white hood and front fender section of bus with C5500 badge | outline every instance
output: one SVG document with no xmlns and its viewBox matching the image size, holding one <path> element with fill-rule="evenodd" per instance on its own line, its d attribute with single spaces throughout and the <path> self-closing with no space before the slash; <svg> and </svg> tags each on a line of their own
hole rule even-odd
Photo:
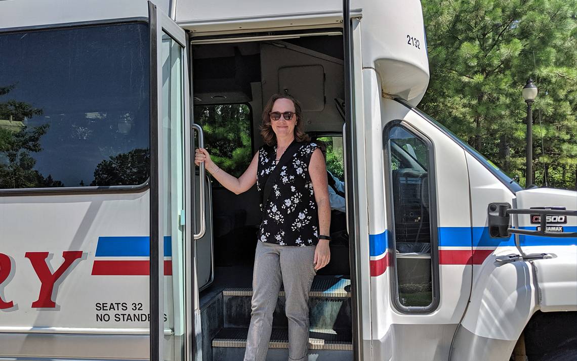
<svg viewBox="0 0 577 361">
<path fill-rule="evenodd" d="M 520 334 L 537 310 L 577 309 L 577 254 L 575 238 L 536 236 L 488 236 L 487 207 L 505 202 L 514 208 L 565 206 L 575 209 L 577 193 L 565 190 L 520 190 L 513 194 L 473 156 L 467 155 L 471 174 L 474 234 L 479 236 L 477 253 L 486 257 L 474 265 L 473 293 L 453 344 L 452 360 L 506 360 Z M 475 176 L 473 176 L 475 174 Z M 535 230 L 529 215 L 512 216 L 514 227 Z M 575 231 L 574 217 L 563 224 Z M 518 246 L 520 245 L 520 247 Z M 484 253 L 490 253 L 483 255 Z M 549 253 L 554 258 L 533 262 L 500 264 L 495 258 L 509 254 Z"/>
</svg>

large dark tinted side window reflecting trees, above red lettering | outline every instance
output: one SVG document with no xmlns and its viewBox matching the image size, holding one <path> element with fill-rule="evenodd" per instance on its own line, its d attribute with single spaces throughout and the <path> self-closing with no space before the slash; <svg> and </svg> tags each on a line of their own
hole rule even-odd
<svg viewBox="0 0 577 361">
<path fill-rule="evenodd" d="M 0 188 L 148 178 L 146 24 L 0 34 Z"/>
</svg>

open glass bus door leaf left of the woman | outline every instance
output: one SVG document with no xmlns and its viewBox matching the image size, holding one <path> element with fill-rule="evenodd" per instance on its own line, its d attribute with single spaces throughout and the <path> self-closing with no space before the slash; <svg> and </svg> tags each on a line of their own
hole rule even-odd
<svg viewBox="0 0 577 361">
<path fill-rule="evenodd" d="M 186 34 L 149 2 L 151 36 L 150 359 L 193 358 L 193 230 Z"/>
</svg>

